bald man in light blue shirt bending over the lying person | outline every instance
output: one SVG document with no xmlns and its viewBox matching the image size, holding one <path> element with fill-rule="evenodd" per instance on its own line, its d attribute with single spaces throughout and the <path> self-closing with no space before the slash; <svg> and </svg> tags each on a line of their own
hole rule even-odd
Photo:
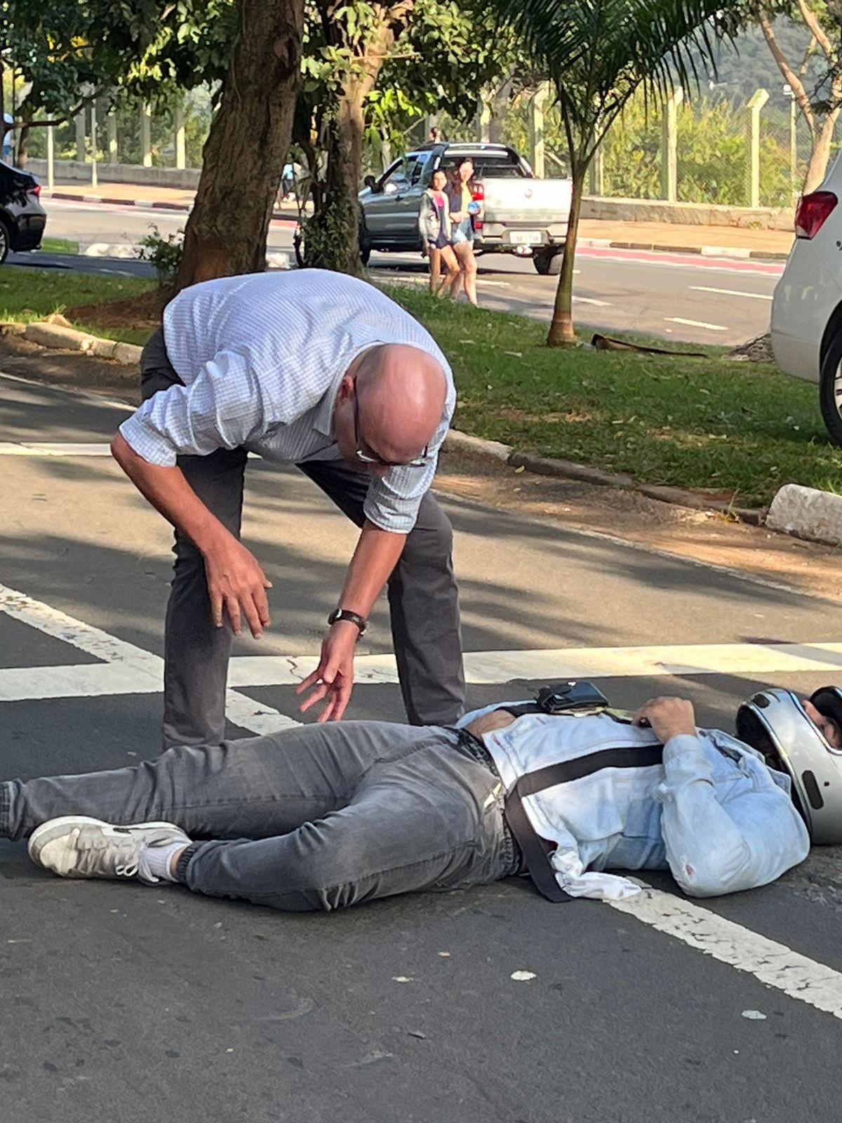
<svg viewBox="0 0 842 1123">
<path fill-rule="evenodd" d="M 231 633 L 257 638 L 269 624 L 271 583 L 240 542 L 249 451 L 295 464 L 361 529 L 301 709 L 324 700 L 320 721 L 342 716 L 356 642 L 388 584 L 408 716 L 456 722 L 452 536 L 429 492 L 456 392 L 432 337 L 354 277 L 256 273 L 181 292 L 140 372 L 144 403 L 111 449 L 175 527 L 164 748 L 222 740 Z"/>
</svg>

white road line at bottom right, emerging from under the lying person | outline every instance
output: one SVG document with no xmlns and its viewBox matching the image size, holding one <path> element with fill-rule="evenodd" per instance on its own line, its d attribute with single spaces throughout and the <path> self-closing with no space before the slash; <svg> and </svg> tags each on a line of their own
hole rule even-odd
<svg viewBox="0 0 842 1123">
<path fill-rule="evenodd" d="M 646 887 L 637 896 L 606 903 L 790 998 L 842 1017 L 842 975 L 784 943 L 660 889 Z"/>
</svg>

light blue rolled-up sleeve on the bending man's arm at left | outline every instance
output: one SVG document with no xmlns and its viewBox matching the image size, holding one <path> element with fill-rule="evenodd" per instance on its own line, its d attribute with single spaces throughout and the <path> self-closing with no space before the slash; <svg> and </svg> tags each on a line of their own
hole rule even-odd
<svg viewBox="0 0 842 1123">
<path fill-rule="evenodd" d="M 177 456 L 239 448 L 266 426 L 264 395 L 240 355 L 222 351 L 190 385 L 158 391 L 120 426 L 149 464 L 173 467 Z"/>
</svg>

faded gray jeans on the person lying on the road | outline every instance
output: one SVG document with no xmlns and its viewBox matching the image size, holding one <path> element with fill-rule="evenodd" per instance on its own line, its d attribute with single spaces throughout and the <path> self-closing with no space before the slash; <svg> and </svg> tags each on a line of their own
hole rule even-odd
<svg viewBox="0 0 842 1123">
<path fill-rule="evenodd" d="M 474 750 L 476 751 L 476 750 Z M 60 815 L 164 820 L 196 893 L 293 912 L 518 871 L 493 766 L 452 730 L 349 721 L 180 748 L 116 772 L 0 784 L 0 837 Z"/>
</svg>

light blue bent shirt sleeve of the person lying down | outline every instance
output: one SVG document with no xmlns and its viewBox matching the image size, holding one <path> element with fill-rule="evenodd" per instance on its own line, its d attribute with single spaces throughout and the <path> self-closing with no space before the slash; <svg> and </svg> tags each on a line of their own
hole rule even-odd
<svg viewBox="0 0 842 1123">
<path fill-rule="evenodd" d="M 769 778 L 720 803 L 699 739 L 663 747 L 661 832 L 672 876 L 689 896 L 710 897 L 767 885 L 803 861 L 809 838 L 793 801 Z"/>
</svg>

